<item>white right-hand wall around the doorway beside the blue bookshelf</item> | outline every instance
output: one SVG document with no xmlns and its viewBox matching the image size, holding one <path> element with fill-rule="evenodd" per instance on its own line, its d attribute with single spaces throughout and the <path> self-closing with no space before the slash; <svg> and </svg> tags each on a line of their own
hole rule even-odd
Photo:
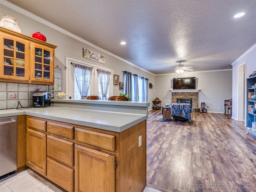
<svg viewBox="0 0 256 192">
<path fill-rule="evenodd" d="M 238 119 L 238 110 L 242 110 L 238 108 L 238 92 L 242 92 L 243 90 L 238 90 L 238 68 L 246 63 L 246 78 L 249 78 L 252 72 L 256 71 L 256 44 L 254 44 L 248 51 L 246 51 L 242 56 L 240 56 L 236 61 L 232 63 L 232 111 L 233 118 L 235 120 Z M 245 81 L 246 83 L 246 81 Z M 246 88 L 246 86 L 245 86 Z M 246 93 L 246 92 L 245 92 Z M 248 98 L 245 95 L 245 99 Z M 246 101 L 245 101 L 246 102 Z M 245 104 L 246 106 L 246 104 Z M 245 110 L 247 111 L 247 110 Z"/>
</svg>

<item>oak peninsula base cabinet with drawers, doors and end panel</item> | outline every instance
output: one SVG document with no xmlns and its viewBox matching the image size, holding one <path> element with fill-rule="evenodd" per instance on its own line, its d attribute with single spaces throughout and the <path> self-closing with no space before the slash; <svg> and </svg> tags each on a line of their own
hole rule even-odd
<svg viewBox="0 0 256 192">
<path fill-rule="evenodd" d="M 146 120 L 116 133 L 27 116 L 26 129 L 26 165 L 68 192 L 146 186 Z"/>
</svg>

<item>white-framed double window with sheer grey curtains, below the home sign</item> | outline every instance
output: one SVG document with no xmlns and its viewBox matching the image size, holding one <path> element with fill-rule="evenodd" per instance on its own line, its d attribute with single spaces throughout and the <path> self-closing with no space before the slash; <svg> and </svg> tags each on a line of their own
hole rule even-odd
<svg viewBox="0 0 256 192">
<path fill-rule="evenodd" d="M 66 94 L 68 94 L 68 96 L 71 96 L 74 99 L 84 98 L 80 94 L 80 90 L 78 88 L 79 86 L 76 82 L 76 78 L 77 78 L 78 82 L 83 82 L 84 84 L 90 82 L 89 86 L 88 86 L 88 91 L 85 92 L 85 94 L 87 93 L 87 96 L 97 95 L 97 96 L 100 96 L 101 99 L 104 98 L 103 95 L 102 95 L 102 89 L 100 87 L 100 80 L 98 78 L 98 71 L 97 70 L 99 69 L 99 70 L 103 70 L 103 71 L 106 71 L 106 72 L 110 73 L 110 76 L 109 76 L 110 82 L 111 82 L 111 77 L 112 77 L 111 74 L 113 74 L 112 70 L 109 70 L 107 68 L 99 68 L 96 65 L 92 65 L 92 64 L 89 64 L 89 63 L 86 63 L 86 62 L 74 60 L 74 59 L 71 59 L 71 58 L 67 58 L 66 63 L 67 63 L 67 69 L 68 69 L 68 70 L 66 70 L 66 77 L 67 77 L 66 78 Z M 88 68 L 92 68 L 91 77 L 88 79 L 88 73 L 86 73 L 84 75 L 81 75 L 80 73 L 78 74 L 78 72 L 76 72 L 76 76 L 75 76 L 75 68 L 74 68 L 74 64 L 72 64 L 72 63 L 79 64 L 81 66 L 85 66 L 85 67 L 88 67 Z M 106 78 L 106 76 L 102 76 L 103 84 L 106 84 L 106 80 L 108 80 Z M 113 86 L 112 86 L 111 83 L 109 83 L 105 100 L 107 100 L 106 98 L 108 98 L 110 94 L 112 95 L 112 92 L 113 92 Z"/>
</svg>

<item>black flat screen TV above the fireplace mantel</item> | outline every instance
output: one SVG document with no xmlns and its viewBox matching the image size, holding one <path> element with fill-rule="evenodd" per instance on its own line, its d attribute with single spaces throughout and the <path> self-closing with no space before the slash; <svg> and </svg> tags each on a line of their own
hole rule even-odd
<svg viewBox="0 0 256 192">
<path fill-rule="evenodd" d="M 173 78 L 173 89 L 196 89 L 196 78 Z"/>
</svg>

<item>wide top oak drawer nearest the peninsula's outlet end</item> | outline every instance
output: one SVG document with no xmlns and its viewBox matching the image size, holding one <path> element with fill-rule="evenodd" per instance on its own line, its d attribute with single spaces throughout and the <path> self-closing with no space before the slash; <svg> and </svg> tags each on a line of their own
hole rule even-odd
<svg viewBox="0 0 256 192">
<path fill-rule="evenodd" d="M 115 136 L 81 128 L 75 128 L 75 139 L 106 150 L 115 150 Z"/>
</svg>

